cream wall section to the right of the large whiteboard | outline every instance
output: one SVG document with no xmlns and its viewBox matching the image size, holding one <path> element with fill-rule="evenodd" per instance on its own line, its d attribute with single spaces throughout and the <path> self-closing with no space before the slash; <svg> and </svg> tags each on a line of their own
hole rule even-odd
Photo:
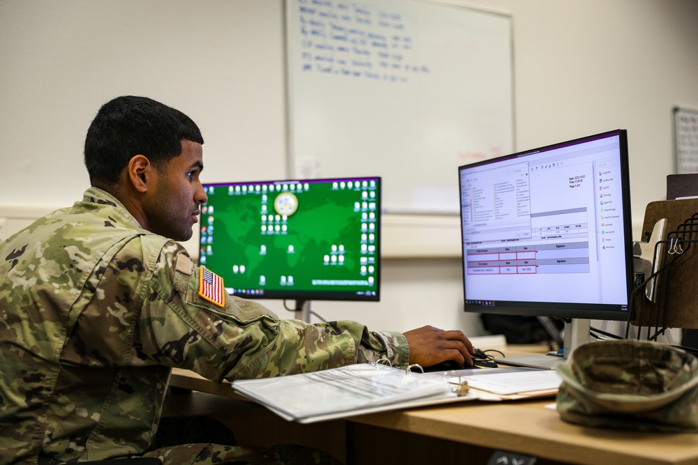
<svg viewBox="0 0 698 465">
<path fill-rule="evenodd" d="M 671 109 L 698 107 L 693 0 L 491 0 L 514 17 L 517 146 L 628 130 L 634 222 L 674 172 Z M 639 229 L 636 230 L 639 234 Z"/>
</svg>

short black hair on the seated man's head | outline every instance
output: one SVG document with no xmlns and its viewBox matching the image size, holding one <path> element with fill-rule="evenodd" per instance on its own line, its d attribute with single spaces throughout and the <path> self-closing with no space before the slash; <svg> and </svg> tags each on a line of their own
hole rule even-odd
<svg viewBox="0 0 698 465">
<path fill-rule="evenodd" d="M 91 185 L 116 185 L 134 155 L 160 170 L 181 155 L 181 140 L 204 143 L 186 114 L 147 97 L 121 96 L 102 105 L 87 130 L 84 163 Z"/>
</svg>

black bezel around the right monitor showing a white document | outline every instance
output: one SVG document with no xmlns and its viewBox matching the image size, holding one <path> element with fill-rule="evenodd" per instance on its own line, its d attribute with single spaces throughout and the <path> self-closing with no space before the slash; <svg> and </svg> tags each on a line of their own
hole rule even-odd
<svg viewBox="0 0 698 465">
<path fill-rule="evenodd" d="M 484 165 L 490 165 L 497 162 L 502 162 L 505 160 L 512 160 L 514 158 L 522 158 L 526 155 L 533 155 L 535 153 L 541 153 L 544 151 L 551 151 L 556 148 L 562 148 L 564 146 L 570 146 L 574 144 L 579 144 L 581 142 L 593 141 L 596 139 L 603 139 L 606 137 L 612 137 L 614 135 L 618 136 L 619 150 L 620 150 L 620 163 L 621 163 L 621 189 L 623 192 L 623 241 L 625 250 L 625 269 L 626 269 L 626 294 L 628 296 L 628 304 L 626 305 L 627 310 L 623 310 L 621 305 L 618 304 L 589 304 L 589 303 L 564 303 L 564 302 L 520 302 L 520 301 L 505 301 L 494 303 L 493 305 L 483 305 L 468 303 L 468 289 L 466 284 L 466 267 L 467 263 L 465 260 L 466 242 L 465 242 L 465 231 L 463 231 L 463 207 L 462 199 L 460 199 L 460 220 L 461 220 L 461 272 L 463 273 L 463 310 L 465 312 L 474 312 L 480 314 L 506 314 L 506 315 L 518 315 L 525 317 L 556 317 L 560 319 L 597 319 L 597 320 L 616 320 L 616 321 L 629 321 L 632 319 L 633 309 L 631 307 L 631 294 L 634 287 L 634 273 L 633 273 L 633 263 L 632 263 L 632 215 L 630 212 L 630 169 L 629 169 L 629 158 L 628 158 L 628 132 L 624 129 L 611 130 L 607 132 L 601 132 L 599 134 L 590 135 L 586 137 L 578 137 L 576 139 L 570 139 L 565 142 L 558 142 L 556 144 L 548 144 L 546 146 L 541 146 L 537 148 L 532 148 L 526 151 L 519 151 L 516 153 L 511 153 L 509 155 L 502 155 L 500 157 L 491 158 L 489 160 L 480 160 L 473 163 L 468 163 L 466 165 L 461 165 L 458 168 L 458 179 L 459 179 L 459 196 L 462 192 L 462 177 L 461 172 L 464 169 L 471 169 L 473 167 L 480 167 Z"/>
</svg>

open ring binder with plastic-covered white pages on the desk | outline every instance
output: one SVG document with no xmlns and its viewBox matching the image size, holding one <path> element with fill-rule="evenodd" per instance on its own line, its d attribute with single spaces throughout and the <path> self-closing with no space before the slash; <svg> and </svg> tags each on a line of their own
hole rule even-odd
<svg viewBox="0 0 698 465">
<path fill-rule="evenodd" d="M 466 400 L 522 399 L 557 392 L 557 386 L 516 395 L 468 390 L 468 376 L 460 374 L 502 371 L 526 374 L 533 369 L 492 368 L 423 374 L 410 372 L 409 367 L 400 369 L 380 363 L 361 363 L 320 372 L 234 381 L 232 388 L 281 418 L 301 423 Z M 546 372 L 542 376 L 554 374 L 551 370 L 537 371 Z"/>
</svg>

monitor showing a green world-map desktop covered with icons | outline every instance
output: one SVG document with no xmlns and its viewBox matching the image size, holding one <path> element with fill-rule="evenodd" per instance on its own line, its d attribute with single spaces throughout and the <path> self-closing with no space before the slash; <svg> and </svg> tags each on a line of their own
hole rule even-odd
<svg viewBox="0 0 698 465">
<path fill-rule="evenodd" d="M 205 184 L 199 262 L 229 294 L 379 300 L 380 178 Z"/>
</svg>

